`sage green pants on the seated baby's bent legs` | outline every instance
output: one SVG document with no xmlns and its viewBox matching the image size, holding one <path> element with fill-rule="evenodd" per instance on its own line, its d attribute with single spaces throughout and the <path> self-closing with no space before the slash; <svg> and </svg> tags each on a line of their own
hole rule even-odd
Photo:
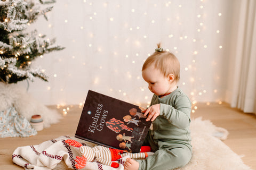
<svg viewBox="0 0 256 170">
<path fill-rule="evenodd" d="M 158 143 L 158 144 L 157 144 Z M 185 145 L 173 148 L 166 142 L 153 142 L 153 140 L 145 141 L 149 144 L 155 154 L 148 156 L 147 159 L 137 160 L 140 164 L 139 170 L 168 170 L 185 166 L 191 159 L 191 149 Z"/>
</svg>

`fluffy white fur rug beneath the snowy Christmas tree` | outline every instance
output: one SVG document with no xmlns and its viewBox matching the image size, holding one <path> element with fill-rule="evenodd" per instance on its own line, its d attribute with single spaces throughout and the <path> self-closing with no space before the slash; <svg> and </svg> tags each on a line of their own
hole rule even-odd
<svg viewBox="0 0 256 170">
<path fill-rule="evenodd" d="M 14 106 L 16 111 L 25 116 L 28 121 L 32 115 L 41 115 L 44 128 L 59 122 L 62 117 L 55 110 L 51 110 L 29 95 L 25 88 L 18 84 L 5 84 L 0 82 L 0 111 Z"/>
</svg>

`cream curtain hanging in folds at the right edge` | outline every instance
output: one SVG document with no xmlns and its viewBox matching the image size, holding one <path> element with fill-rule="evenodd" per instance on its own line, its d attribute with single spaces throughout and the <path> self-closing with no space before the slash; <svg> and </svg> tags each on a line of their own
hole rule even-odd
<svg viewBox="0 0 256 170">
<path fill-rule="evenodd" d="M 227 101 L 256 113 L 256 1 L 236 1 L 234 9 Z"/>
</svg>

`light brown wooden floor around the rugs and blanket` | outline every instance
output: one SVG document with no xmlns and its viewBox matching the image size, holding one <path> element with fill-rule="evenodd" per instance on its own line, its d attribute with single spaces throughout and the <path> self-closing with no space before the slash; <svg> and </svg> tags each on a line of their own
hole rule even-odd
<svg viewBox="0 0 256 170">
<path fill-rule="evenodd" d="M 196 106 L 197 109 L 191 114 L 191 118 L 202 117 L 203 120 L 211 120 L 214 125 L 227 129 L 228 139 L 223 142 L 236 154 L 243 156 L 242 159 L 246 165 L 256 169 L 256 116 L 230 108 L 228 104 L 196 104 Z M 0 138 L 0 169 L 23 169 L 13 164 L 11 159 L 13 150 L 19 146 L 38 145 L 61 135 L 74 136 L 82 107 L 49 107 L 58 109 L 64 115 L 61 122 L 39 131 L 33 137 Z M 63 111 L 63 109 L 66 110 Z"/>
</svg>

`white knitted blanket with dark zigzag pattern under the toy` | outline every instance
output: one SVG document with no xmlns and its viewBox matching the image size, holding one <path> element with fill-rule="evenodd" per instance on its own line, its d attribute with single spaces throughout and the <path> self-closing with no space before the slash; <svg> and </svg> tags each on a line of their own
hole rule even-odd
<svg viewBox="0 0 256 170">
<path fill-rule="evenodd" d="M 62 136 L 56 139 L 45 141 L 39 145 L 18 147 L 14 150 L 12 160 L 15 164 L 25 169 L 50 170 L 58 167 L 59 163 L 65 162 L 67 168 L 76 169 L 76 156 L 81 156 L 79 148 L 69 146 L 65 140 L 71 139 L 68 136 Z M 72 138 L 74 139 L 74 138 Z M 77 140 L 77 139 L 74 139 Z M 83 145 L 90 145 L 89 143 Z M 87 162 L 83 169 L 124 169 L 124 162 L 129 156 L 118 160 L 118 168 L 113 168 L 100 164 L 98 162 Z M 57 166 L 58 165 L 58 166 Z"/>
</svg>

